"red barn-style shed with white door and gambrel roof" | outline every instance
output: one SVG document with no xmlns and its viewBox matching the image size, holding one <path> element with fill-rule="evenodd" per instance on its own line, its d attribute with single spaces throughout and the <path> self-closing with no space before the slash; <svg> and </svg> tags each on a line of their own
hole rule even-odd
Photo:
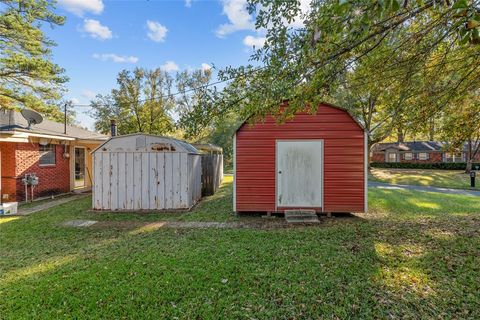
<svg viewBox="0 0 480 320">
<path fill-rule="evenodd" d="M 367 163 L 367 134 L 340 107 L 244 123 L 234 136 L 234 211 L 366 212 Z"/>
</svg>

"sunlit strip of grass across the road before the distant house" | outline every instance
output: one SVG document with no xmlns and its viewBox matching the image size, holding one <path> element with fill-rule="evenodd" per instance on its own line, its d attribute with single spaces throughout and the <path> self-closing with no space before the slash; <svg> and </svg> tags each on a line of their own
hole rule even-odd
<svg viewBox="0 0 480 320">
<path fill-rule="evenodd" d="M 371 181 L 452 189 L 470 189 L 470 176 L 458 170 L 416 170 L 372 168 Z M 476 188 L 480 190 L 480 182 Z"/>
</svg>

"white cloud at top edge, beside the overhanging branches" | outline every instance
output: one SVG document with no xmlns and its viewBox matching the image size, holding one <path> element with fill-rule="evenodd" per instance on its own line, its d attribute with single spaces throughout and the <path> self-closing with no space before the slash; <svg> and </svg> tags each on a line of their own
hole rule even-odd
<svg viewBox="0 0 480 320">
<path fill-rule="evenodd" d="M 247 10 L 247 0 L 222 0 L 222 5 L 223 14 L 227 16 L 229 23 L 218 27 L 218 37 L 223 38 L 239 30 L 255 30 L 253 17 Z"/>
</svg>

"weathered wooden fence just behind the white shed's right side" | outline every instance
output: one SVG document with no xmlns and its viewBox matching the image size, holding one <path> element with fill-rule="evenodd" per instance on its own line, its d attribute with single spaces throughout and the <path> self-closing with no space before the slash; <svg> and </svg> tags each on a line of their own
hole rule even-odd
<svg viewBox="0 0 480 320">
<path fill-rule="evenodd" d="M 223 154 L 202 154 L 202 197 L 217 192 L 223 180 Z"/>
</svg>

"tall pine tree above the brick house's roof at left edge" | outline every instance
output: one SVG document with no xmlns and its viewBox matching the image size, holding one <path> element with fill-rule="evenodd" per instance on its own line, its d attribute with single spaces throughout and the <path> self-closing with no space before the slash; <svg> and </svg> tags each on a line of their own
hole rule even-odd
<svg viewBox="0 0 480 320">
<path fill-rule="evenodd" d="M 23 105 L 60 120 L 54 104 L 67 78 L 50 61 L 54 43 L 41 30 L 43 24 L 65 22 L 53 9 L 53 1 L 0 0 L 0 104 Z"/>
</svg>

